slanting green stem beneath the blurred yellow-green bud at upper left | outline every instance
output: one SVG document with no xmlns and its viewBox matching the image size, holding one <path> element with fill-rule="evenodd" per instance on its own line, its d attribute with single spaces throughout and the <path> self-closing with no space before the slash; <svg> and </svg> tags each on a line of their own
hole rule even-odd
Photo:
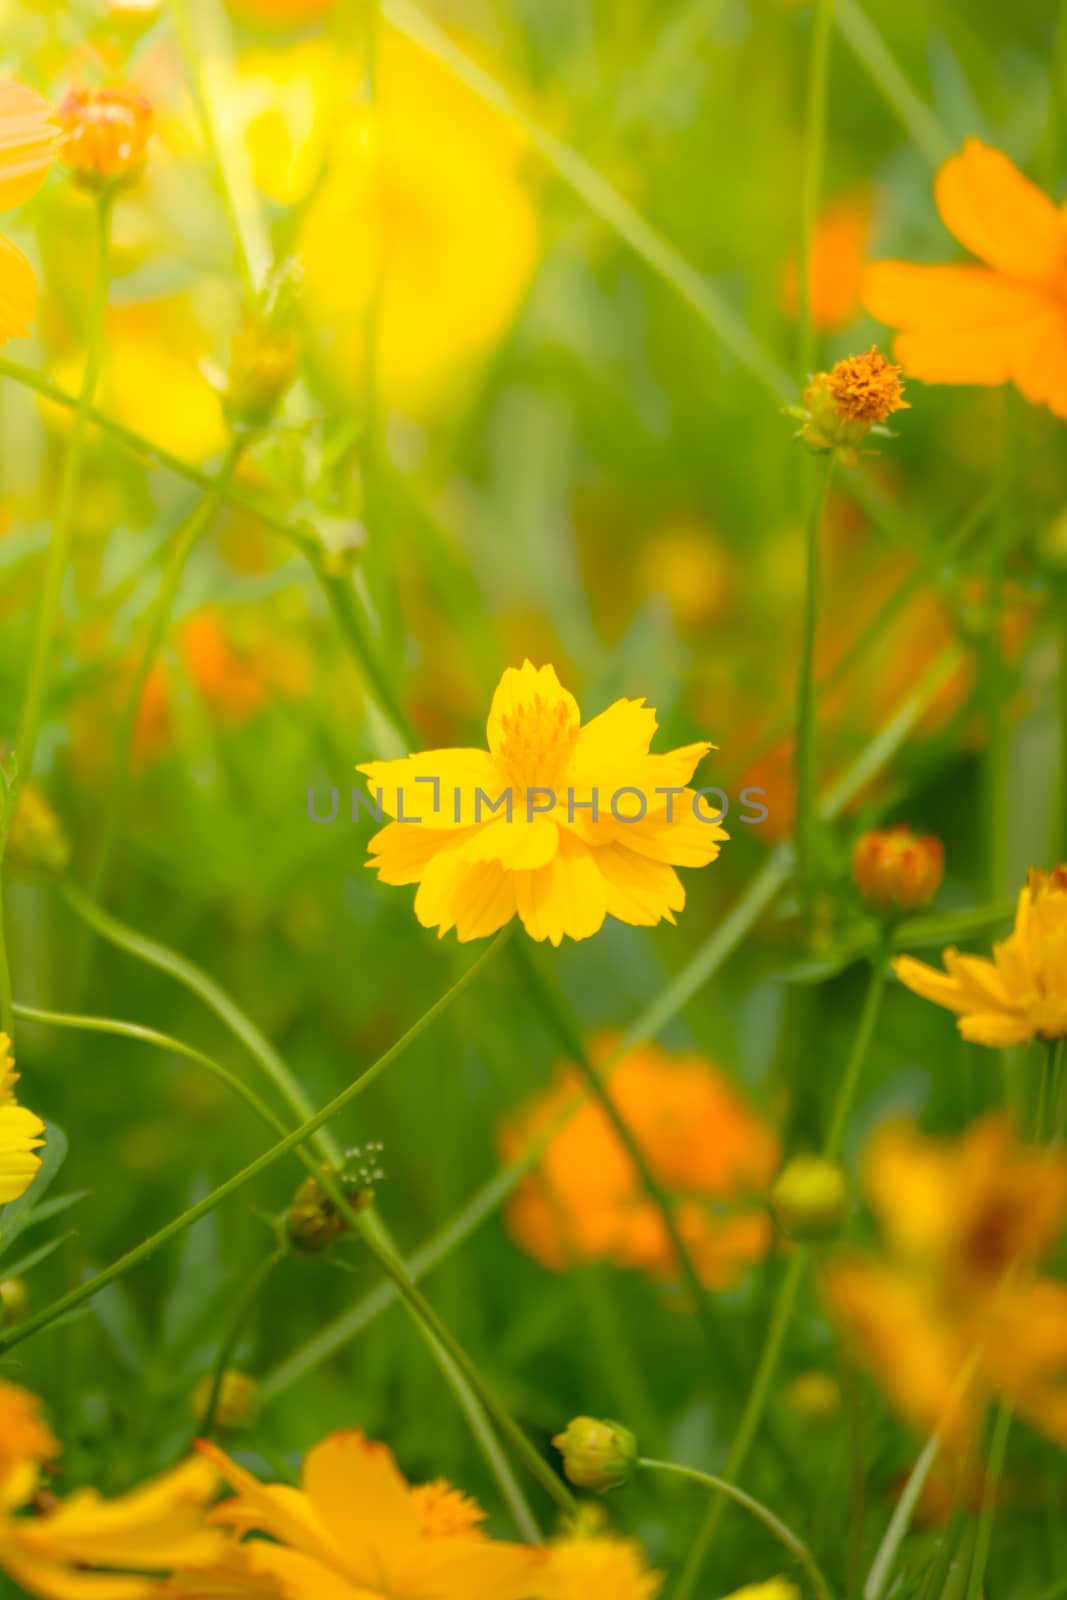
<svg viewBox="0 0 1067 1600">
<path fill-rule="evenodd" d="M 160 650 L 163 648 L 163 640 L 171 624 L 171 613 L 174 610 L 174 602 L 178 600 L 178 590 L 186 571 L 186 563 L 192 555 L 200 538 L 208 531 L 214 522 L 214 515 L 219 510 L 226 498 L 226 490 L 229 488 L 237 466 L 245 451 L 246 440 L 235 437 L 226 453 L 226 459 L 219 467 L 219 474 L 211 486 L 211 491 L 202 499 L 195 512 L 179 533 L 171 541 L 171 547 L 166 557 L 166 566 L 163 568 L 163 581 L 160 582 L 158 592 L 149 611 L 144 645 L 141 656 L 138 659 L 138 667 L 126 694 L 126 701 L 118 718 L 118 733 L 115 736 L 115 760 L 112 763 L 112 776 L 109 784 L 109 806 L 104 819 L 104 832 L 99 843 L 99 851 L 93 864 L 93 872 L 90 877 L 90 898 L 96 899 L 102 890 L 107 886 L 107 878 L 110 875 L 110 867 L 115 854 L 115 846 L 118 843 L 118 834 L 126 814 L 126 803 L 130 798 L 131 787 L 131 770 L 133 770 L 133 746 L 138 733 L 138 717 L 141 714 L 141 702 L 144 699 L 144 690 L 147 686 L 152 669 L 157 662 Z M 80 986 L 75 986 L 78 992 Z"/>
</svg>

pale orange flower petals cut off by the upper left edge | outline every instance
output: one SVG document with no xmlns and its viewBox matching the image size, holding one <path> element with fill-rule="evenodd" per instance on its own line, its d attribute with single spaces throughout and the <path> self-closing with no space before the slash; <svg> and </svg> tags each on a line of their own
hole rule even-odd
<svg viewBox="0 0 1067 1600">
<path fill-rule="evenodd" d="M 13 78 L 0 80 L 0 211 L 37 194 L 59 146 L 51 106 Z M 0 235 L 0 344 L 29 333 L 37 309 L 37 278 L 29 261 Z"/>
</svg>

